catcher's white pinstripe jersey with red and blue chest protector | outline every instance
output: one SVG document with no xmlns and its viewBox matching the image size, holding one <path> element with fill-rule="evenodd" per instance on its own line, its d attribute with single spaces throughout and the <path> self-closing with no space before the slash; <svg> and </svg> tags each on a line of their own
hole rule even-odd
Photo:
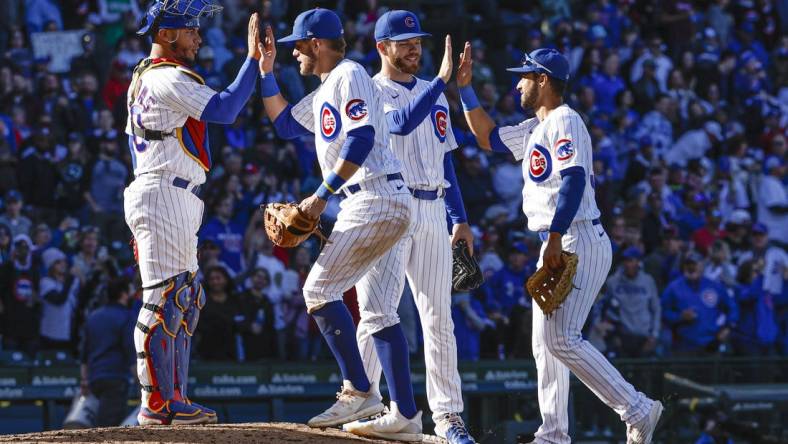
<svg viewBox="0 0 788 444">
<path fill-rule="evenodd" d="M 192 77 L 197 74 L 187 74 L 187 69 L 165 66 L 151 69 L 137 79 L 141 84 L 134 103 L 128 106 L 126 134 L 133 136 L 134 119 L 136 126 L 173 131 L 175 136 L 164 137 L 164 140 L 134 136 L 129 148 L 135 176 L 167 171 L 195 184 L 205 182 L 205 172 L 210 168 L 210 160 L 206 162 L 205 156 L 210 159 L 210 153 L 204 123 L 199 119 L 216 91 Z M 134 87 L 134 83 L 129 85 L 130 93 Z M 179 130 L 187 120 L 189 128 Z"/>
</svg>

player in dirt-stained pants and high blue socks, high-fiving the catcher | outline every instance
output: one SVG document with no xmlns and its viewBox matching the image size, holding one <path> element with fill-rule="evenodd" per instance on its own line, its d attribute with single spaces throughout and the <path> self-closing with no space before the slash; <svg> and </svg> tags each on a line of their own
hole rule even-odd
<svg viewBox="0 0 788 444">
<path fill-rule="evenodd" d="M 328 9 L 312 9 L 295 20 L 293 56 L 301 75 L 316 75 L 322 84 L 295 106 L 279 93 L 272 70 L 276 57 L 273 33 L 261 44 L 263 102 L 281 137 L 316 133 L 315 146 L 323 183 L 299 208 L 319 216 L 326 200 L 343 197 L 328 243 L 304 283 L 307 311 L 314 317 L 339 364 L 343 377 L 337 402 L 309 420 L 311 427 L 330 427 L 383 411 L 370 384 L 356 344 L 356 329 L 342 293 L 366 285 L 377 270 L 402 269 L 399 256 L 385 254 L 408 229 L 411 197 L 400 163 L 387 149 L 388 124 L 375 83 L 364 68 L 344 58 L 339 17 Z M 408 346 L 397 316 L 400 294 L 359 296 L 359 309 L 375 319 L 371 331 L 386 374 L 391 411 L 376 430 L 381 438 L 421 440 L 421 412 L 416 410 L 410 381 Z"/>
</svg>

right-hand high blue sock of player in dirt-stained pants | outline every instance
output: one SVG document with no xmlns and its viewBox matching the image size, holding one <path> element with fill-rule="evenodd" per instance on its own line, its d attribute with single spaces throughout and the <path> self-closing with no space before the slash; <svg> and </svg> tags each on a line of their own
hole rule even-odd
<svg viewBox="0 0 788 444">
<path fill-rule="evenodd" d="M 399 324 L 386 327 L 374 333 L 375 349 L 378 351 L 389 396 L 397 403 L 402 416 L 410 419 L 416 416 L 416 401 L 413 399 L 413 386 L 410 382 L 410 355 L 408 343 Z"/>
</svg>

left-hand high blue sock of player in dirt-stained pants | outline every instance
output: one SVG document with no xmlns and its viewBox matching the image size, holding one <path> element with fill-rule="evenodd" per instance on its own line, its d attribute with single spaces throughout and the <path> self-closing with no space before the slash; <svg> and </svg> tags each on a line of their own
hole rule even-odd
<svg viewBox="0 0 788 444">
<path fill-rule="evenodd" d="M 352 382 L 356 390 L 369 391 L 369 379 L 356 343 L 356 327 L 345 303 L 329 302 L 312 313 L 312 317 L 339 364 L 342 379 Z"/>
</svg>

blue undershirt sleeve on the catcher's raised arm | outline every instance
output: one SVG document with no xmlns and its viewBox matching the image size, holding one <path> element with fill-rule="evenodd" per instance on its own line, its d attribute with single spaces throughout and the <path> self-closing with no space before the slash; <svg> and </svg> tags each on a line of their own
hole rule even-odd
<svg viewBox="0 0 788 444">
<path fill-rule="evenodd" d="M 200 120 L 212 123 L 230 124 L 235 122 L 238 113 L 254 92 L 257 82 L 257 61 L 247 57 L 233 83 L 224 91 L 215 94 L 205 105 Z"/>
</svg>

